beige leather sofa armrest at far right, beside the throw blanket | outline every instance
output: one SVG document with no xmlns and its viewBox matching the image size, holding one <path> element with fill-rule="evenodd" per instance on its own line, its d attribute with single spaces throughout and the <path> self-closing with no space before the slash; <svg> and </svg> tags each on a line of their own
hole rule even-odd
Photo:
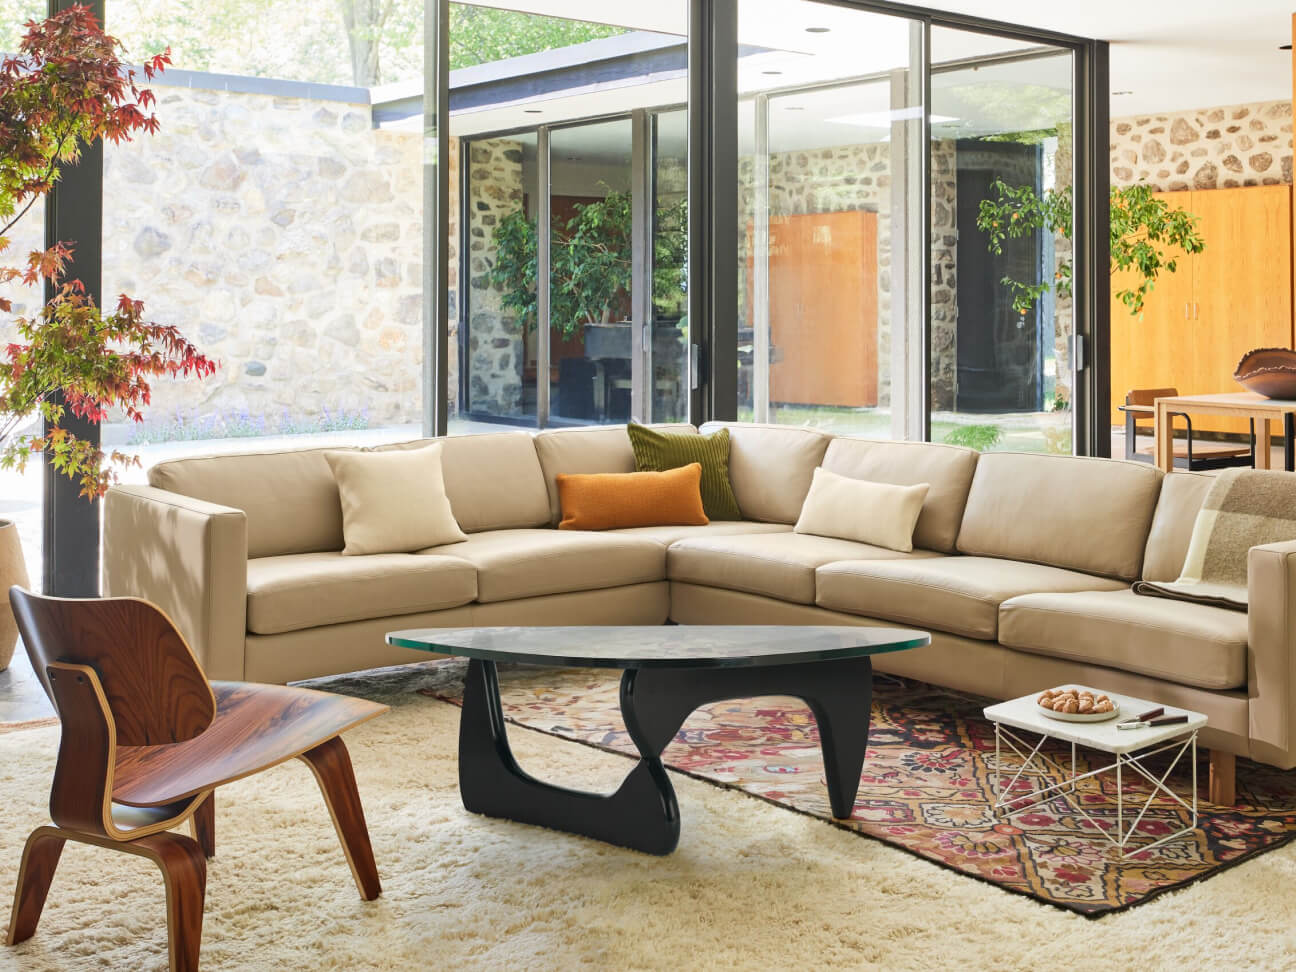
<svg viewBox="0 0 1296 972">
<path fill-rule="evenodd" d="M 1296 766 L 1296 540 L 1247 555 L 1251 754 Z"/>
</svg>

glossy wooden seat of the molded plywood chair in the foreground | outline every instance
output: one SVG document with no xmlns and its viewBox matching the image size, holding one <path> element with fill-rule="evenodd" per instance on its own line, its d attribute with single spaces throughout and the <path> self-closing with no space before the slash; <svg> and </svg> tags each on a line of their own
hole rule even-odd
<svg viewBox="0 0 1296 972">
<path fill-rule="evenodd" d="M 113 802 L 166 806 L 302 756 L 388 706 L 290 686 L 213 682 L 216 714 L 184 743 L 118 746 Z"/>
</svg>

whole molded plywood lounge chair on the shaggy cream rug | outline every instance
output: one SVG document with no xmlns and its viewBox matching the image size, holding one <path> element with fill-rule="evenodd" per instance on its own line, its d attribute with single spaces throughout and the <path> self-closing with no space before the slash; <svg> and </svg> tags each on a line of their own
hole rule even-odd
<svg viewBox="0 0 1296 972">
<path fill-rule="evenodd" d="M 388 706 L 289 686 L 207 682 L 170 618 L 135 597 L 9 603 L 62 723 L 52 827 L 27 839 L 6 942 L 30 938 L 69 840 L 162 871 L 172 969 L 196 969 L 215 789 L 294 757 L 319 780 L 360 897 L 382 893 L 341 734 Z M 189 822 L 193 839 L 170 833 Z"/>
</svg>

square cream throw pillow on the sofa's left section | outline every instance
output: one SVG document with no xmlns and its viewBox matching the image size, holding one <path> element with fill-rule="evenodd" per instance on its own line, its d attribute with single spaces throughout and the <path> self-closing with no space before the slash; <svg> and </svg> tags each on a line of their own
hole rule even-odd
<svg viewBox="0 0 1296 972">
<path fill-rule="evenodd" d="M 446 499 L 439 442 L 324 457 L 342 496 L 342 553 L 404 553 L 468 539 Z"/>
</svg>

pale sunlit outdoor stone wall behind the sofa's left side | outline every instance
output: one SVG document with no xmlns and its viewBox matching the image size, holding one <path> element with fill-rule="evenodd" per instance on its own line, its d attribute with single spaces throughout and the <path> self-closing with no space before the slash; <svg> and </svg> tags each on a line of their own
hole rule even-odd
<svg viewBox="0 0 1296 972">
<path fill-rule="evenodd" d="M 368 105 L 157 86 L 161 131 L 109 145 L 104 293 L 220 362 L 159 381 L 150 416 L 416 422 L 422 367 L 417 135 Z"/>
</svg>

